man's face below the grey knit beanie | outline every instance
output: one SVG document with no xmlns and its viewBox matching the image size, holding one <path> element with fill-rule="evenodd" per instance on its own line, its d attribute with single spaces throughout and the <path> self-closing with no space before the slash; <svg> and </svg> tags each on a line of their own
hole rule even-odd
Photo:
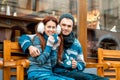
<svg viewBox="0 0 120 80">
<path fill-rule="evenodd" d="M 73 21 L 68 18 L 63 18 L 60 22 L 63 35 L 69 35 L 73 28 Z"/>
</svg>

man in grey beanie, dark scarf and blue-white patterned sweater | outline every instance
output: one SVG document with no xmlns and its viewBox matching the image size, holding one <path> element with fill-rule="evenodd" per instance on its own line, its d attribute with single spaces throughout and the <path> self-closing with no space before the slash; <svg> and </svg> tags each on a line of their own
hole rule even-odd
<svg viewBox="0 0 120 80">
<path fill-rule="evenodd" d="M 85 62 L 81 44 L 73 33 L 75 24 L 73 16 L 71 14 L 61 15 L 59 24 L 62 29 L 64 50 L 62 55 L 60 55 L 62 57 L 61 60 L 53 68 L 54 73 L 74 78 L 75 80 L 108 80 L 97 75 L 83 73 Z M 28 47 L 28 50 L 32 57 L 40 55 L 38 49 L 32 45 Z"/>
</svg>

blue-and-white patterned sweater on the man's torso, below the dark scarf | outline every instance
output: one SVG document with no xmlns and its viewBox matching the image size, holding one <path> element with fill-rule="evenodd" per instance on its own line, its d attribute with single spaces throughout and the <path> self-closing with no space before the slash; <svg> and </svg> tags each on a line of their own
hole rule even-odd
<svg viewBox="0 0 120 80">
<path fill-rule="evenodd" d="M 77 68 L 72 69 L 71 60 L 75 59 L 77 61 Z M 82 52 L 82 47 L 78 39 L 75 38 L 72 46 L 68 49 L 64 49 L 61 63 L 58 63 L 54 67 L 55 73 L 61 73 L 71 70 L 80 70 L 83 71 L 85 68 L 85 62 Z"/>
</svg>

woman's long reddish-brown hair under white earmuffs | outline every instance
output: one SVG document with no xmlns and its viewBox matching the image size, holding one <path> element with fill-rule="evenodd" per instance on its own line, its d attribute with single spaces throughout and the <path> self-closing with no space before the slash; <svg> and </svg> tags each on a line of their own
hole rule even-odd
<svg viewBox="0 0 120 80">
<path fill-rule="evenodd" d="M 44 19 L 43 19 L 43 24 L 46 25 L 48 21 L 53 21 L 56 23 L 56 26 L 58 25 L 58 21 L 55 17 L 53 16 L 46 16 Z M 36 31 L 37 31 L 37 27 L 36 27 Z M 45 39 L 43 37 L 43 34 L 41 33 L 38 33 L 37 32 L 37 35 L 39 36 L 39 39 L 41 41 L 41 48 L 42 50 L 44 50 L 45 48 L 45 45 L 46 45 L 46 42 L 45 42 Z M 62 38 L 62 35 L 59 35 L 60 39 L 61 39 L 61 43 L 60 43 L 60 46 L 59 46 L 59 49 L 58 49 L 58 62 L 61 61 L 62 59 L 62 53 L 63 53 L 63 38 Z"/>
</svg>

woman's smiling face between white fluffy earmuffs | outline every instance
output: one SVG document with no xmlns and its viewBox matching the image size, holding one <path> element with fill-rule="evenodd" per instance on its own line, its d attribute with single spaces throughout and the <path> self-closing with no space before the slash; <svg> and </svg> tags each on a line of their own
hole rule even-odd
<svg viewBox="0 0 120 80">
<path fill-rule="evenodd" d="M 45 25 L 45 33 L 48 36 L 56 33 L 56 29 L 56 23 L 53 21 L 48 21 Z"/>
</svg>

